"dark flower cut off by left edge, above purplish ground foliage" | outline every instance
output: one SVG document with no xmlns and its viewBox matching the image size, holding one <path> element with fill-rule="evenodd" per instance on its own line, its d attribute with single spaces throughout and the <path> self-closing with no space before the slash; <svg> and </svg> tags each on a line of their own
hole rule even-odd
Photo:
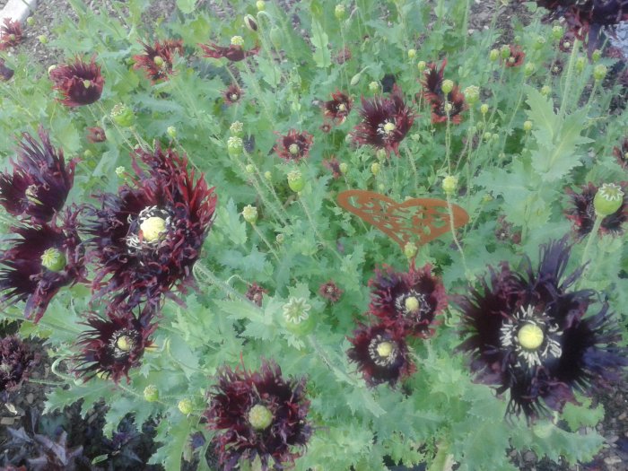
<svg viewBox="0 0 628 471">
<path fill-rule="evenodd" d="M 17 389 L 28 378 L 38 356 L 17 336 L 0 338 L 0 397 Z"/>
</svg>

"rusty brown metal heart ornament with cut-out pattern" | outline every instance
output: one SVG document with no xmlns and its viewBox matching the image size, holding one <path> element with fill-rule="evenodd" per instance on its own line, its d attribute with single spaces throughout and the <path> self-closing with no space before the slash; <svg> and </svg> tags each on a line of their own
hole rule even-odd
<svg viewBox="0 0 628 471">
<path fill-rule="evenodd" d="M 397 203 L 388 196 L 372 191 L 350 189 L 338 194 L 338 204 L 363 221 L 395 240 L 403 249 L 410 240 L 423 245 L 449 232 L 447 201 L 433 198 L 412 198 Z M 454 227 L 469 221 L 467 212 L 451 205 Z"/>
</svg>

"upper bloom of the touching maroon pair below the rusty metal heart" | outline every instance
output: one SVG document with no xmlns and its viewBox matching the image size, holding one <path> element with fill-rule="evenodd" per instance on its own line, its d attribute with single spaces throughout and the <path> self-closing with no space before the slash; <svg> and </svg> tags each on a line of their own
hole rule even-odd
<svg viewBox="0 0 628 471">
<path fill-rule="evenodd" d="M 370 310 L 386 326 L 398 325 L 406 334 L 427 337 L 434 318 L 447 306 L 445 288 L 432 276 L 432 266 L 396 272 L 390 266 L 376 270 L 369 281 Z"/>
</svg>

